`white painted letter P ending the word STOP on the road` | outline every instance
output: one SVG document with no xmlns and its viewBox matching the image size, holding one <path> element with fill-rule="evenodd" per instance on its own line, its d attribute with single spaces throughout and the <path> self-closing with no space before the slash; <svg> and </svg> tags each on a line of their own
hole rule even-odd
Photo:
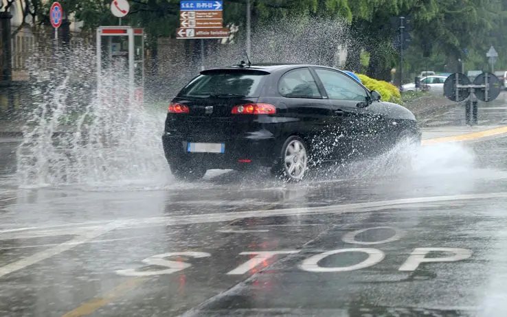
<svg viewBox="0 0 507 317">
<path fill-rule="evenodd" d="M 427 258 L 427 253 L 432 251 L 436 252 L 449 252 L 454 255 L 449 257 L 433 257 Z M 420 263 L 428 262 L 453 262 L 468 259 L 472 256 L 471 250 L 464 248 L 415 248 L 412 254 L 408 257 L 407 261 L 403 263 L 398 270 L 400 271 L 414 271 L 418 268 Z"/>
</svg>

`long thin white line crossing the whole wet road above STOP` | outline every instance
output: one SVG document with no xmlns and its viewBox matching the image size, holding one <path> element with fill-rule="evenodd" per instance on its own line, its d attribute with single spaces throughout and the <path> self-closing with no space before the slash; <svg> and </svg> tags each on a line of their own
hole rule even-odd
<svg viewBox="0 0 507 317">
<path fill-rule="evenodd" d="M 394 206 L 404 207 L 403 205 L 411 205 L 414 207 L 416 204 L 424 204 L 427 202 L 450 202 L 455 200 L 476 200 L 476 199 L 491 199 L 491 198 L 507 198 L 507 192 L 498 193 L 473 193 L 453 196 L 432 196 L 422 198 L 403 198 L 397 200 L 381 200 L 377 202 L 359 202 L 354 204 L 338 204 L 326 207 L 308 207 L 308 208 L 294 208 L 294 209 L 269 209 L 269 210 L 256 210 L 256 211 L 236 211 L 229 213 L 204 213 L 196 215 L 180 215 L 173 217 L 151 217 L 151 218 L 131 218 L 126 220 L 115 220 L 112 222 L 82 222 L 76 224 L 65 225 L 58 235 L 73 235 L 77 230 L 82 230 L 84 224 L 95 224 L 93 228 L 103 228 L 108 226 L 115 226 L 117 229 L 139 228 L 146 226 L 175 226 L 181 224 L 205 224 L 212 222 L 229 222 L 232 220 L 244 218 L 267 218 L 273 216 L 283 215 L 311 215 L 311 214 L 343 214 L 343 213 L 365 213 L 369 211 L 378 211 L 381 209 L 390 209 Z M 405 206 L 406 207 L 406 206 Z M 63 225 L 54 226 L 54 228 L 61 228 Z M 74 227 L 73 227 L 74 226 Z M 76 228 L 77 226 L 77 228 Z M 81 227 L 80 227 L 81 226 Z M 38 228 L 38 227 L 32 227 Z M 27 239 L 29 237 L 43 237 L 56 235 L 52 233 L 52 226 L 42 226 L 43 233 L 39 233 L 36 229 L 27 229 L 26 235 L 16 236 L 12 233 L 0 231 L 0 241 L 6 239 Z M 11 229 L 5 229 L 11 230 Z M 15 228 L 14 230 L 24 230 L 24 228 Z"/>
</svg>

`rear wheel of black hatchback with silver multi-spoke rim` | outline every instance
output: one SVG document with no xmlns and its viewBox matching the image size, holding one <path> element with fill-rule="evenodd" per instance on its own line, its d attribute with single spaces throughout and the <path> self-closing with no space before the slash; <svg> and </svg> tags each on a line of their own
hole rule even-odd
<svg viewBox="0 0 507 317">
<path fill-rule="evenodd" d="M 308 170 L 308 157 L 306 142 L 293 135 L 284 141 L 278 163 L 271 168 L 271 174 L 284 181 L 299 182 Z"/>
</svg>

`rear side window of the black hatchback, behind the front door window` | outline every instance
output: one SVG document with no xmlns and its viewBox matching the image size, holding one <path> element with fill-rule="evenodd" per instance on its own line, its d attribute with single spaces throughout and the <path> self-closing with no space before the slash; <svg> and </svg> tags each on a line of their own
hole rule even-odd
<svg viewBox="0 0 507 317">
<path fill-rule="evenodd" d="M 295 69 L 285 73 L 278 82 L 278 91 L 284 97 L 319 98 L 317 83 L 309 69 Z"/>
</svg>

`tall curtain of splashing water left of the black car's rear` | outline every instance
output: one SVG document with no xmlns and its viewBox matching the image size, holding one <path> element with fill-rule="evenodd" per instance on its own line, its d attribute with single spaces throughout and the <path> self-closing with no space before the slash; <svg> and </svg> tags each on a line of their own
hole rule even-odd
<svg viewBox="0 0 507 317">
<path fill-rule="evenodd" d="M 102 88 L 109 95 L 99 94 L 93 47 L 58 58 L 67 62 L 32 70 L 34 110 L 17 152 L 20 185 L 153 181 L 164 175 L 164 113 L 111 99 L 127 93 L 120 88 L 128 87 L 124 72 L 106 76 Z"/>
</svg>

